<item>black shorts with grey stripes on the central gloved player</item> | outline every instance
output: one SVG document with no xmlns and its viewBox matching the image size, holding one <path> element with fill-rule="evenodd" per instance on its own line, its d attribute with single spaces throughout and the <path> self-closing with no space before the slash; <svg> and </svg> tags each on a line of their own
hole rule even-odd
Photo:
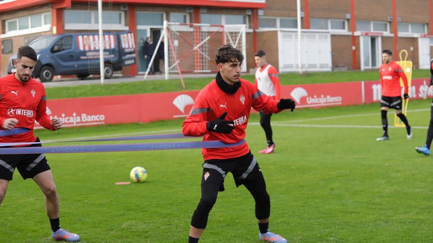
<svg viewBox="0 0 433 243">
<path fill-rule="evenodd" d="M 208 160 L 202 166 L 203 176 L 201 185 L 208 183 L 218 184 L 219 191 L 224 190 L 224 178 L 228 172 L 232 173 L 236 187 L 241 186 L 247 180 L 259 180 L 263 178 L 259 164 L 251 152 L 228 160 Z"/>
</svg>

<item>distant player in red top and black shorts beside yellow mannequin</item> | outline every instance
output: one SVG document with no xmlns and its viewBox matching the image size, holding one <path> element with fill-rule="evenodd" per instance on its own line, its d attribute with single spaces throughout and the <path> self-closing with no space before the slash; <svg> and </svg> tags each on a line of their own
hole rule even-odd
<svg viewBox="0 0 433 243">
<path fill-rule="evenodd" d="M 388 136 L 388 119 L 386 114 L 389 108 L 396 110 L 397 116 L 402 120 L 406 126 L 407 139 L 412 138 L 412 131 L 407 121 L 406 116 L 402 113 L 402 91 L 400 88 L 400 78 L 404 84 L 403 98 L 409 98 L 407 78 L 404 74 L 402 67 L 392 60 L 392 52 L 390 50 L 383 50 L 382 52 L 383 64 L 379 68 L 380 85 L 382 87 L 382 97 L 380 99 L 380 111 L 382 115 L 382 128 L 383 135 L 376 138 L 376 141 L 389 140 Z"/>
</svg>

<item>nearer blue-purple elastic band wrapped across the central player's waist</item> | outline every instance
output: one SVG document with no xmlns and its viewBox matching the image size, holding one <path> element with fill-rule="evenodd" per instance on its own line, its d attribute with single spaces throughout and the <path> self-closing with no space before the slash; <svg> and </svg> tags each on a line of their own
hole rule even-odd
<svg viewBox="0 0 433 243">
<path fill-rule="evenodd" d="M 122 151 L 150 151 L 169 149 L 197 149 L 197 148 L 228 148 L 243 144 L 245 140 L 237 143 L 223 143 L 220 141 L 195 142 L 165 142 L 165 143 L 129 143 L 129 144 L 102 144 L 102 145 L 76 145 L 76 146 L 47 146 L 24 148 L 0 148 L 0 154 L 63 154 L 63 153 L 97 153 Z"/>
</svg>

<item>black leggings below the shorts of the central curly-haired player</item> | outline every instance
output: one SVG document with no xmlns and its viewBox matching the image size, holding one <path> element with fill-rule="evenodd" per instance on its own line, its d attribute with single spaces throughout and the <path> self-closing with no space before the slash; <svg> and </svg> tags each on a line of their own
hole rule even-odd
<svg viewBox="0 0 433 243">
<path fill-rule="evenodd" d="M 268 218 L 271 214 L 271 200 L 266 191 L 265 179 L 246 180 L 244 186 L 251 193 L 255 201 L 255 216 L 257 219 Z M 191 219 L 191 225 L 198 229 L 205 229 L 208 223 L 209 212 L 216 202 L 218 184 L 203 184 L 201 186 L 201 198 Z"/>
</svg>

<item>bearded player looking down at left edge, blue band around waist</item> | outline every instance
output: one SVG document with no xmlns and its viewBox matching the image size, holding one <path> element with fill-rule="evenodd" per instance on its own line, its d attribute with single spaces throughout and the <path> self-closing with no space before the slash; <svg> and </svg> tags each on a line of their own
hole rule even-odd
<svg viewBox="0 0 433 243">
<path fill-rule="evenodd" d="M 33 134 L 35 120 L 49 130 L 54 131 L 62 128 L 60 118 L 50 120 L 46 114 L 44 86 L 31 78 L 36 61 L 36 52 L 31 47 L 21 47 L 18 49 L 17 60 L 14 61 L 16 72 L 0 78 L 1 129 L 29 129 L 28 132 L 19 135 L 0 136 L 0 143 L 39 142 L 39 138 Z M 32 144 L 30 146 L 40 147 L 41 145 Z M 53 239 L 77 242 L 80 239 L 77 234 L 69 233 L 60 227 L 59 196 L 44 154 L 0 154 L 0 204 L 6 194 L 9 181 L 12 180 L 15 168 L 18 168 L 23 179 L 33 179 L 44 193 L 45 207 L 50 219 Z"/>
</svg>

